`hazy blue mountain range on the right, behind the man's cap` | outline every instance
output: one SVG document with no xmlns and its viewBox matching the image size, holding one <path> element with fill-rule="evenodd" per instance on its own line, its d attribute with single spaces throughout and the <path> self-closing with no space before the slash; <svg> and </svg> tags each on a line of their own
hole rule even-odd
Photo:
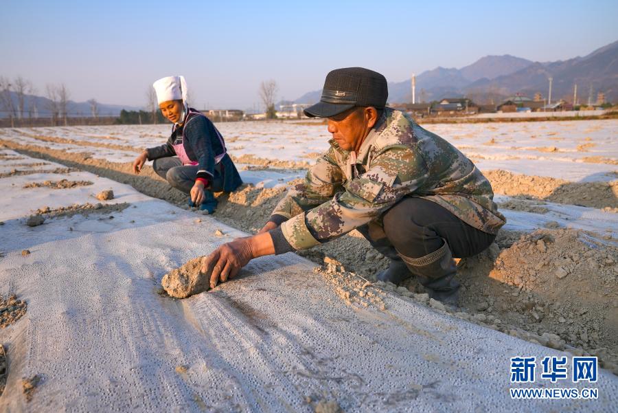
<svg viewBox="0 0 618 413">
<path fill-rule="evenodd" d="M 577 101 L 585 104 L 588 96 L 597 100 L 597 92 L 605 93 L 609 102 L 618 102 L 618 41 L 584 57 L 556 62 L 533 62 L 505 54 L 485 56 L 461 69 L 436 67 L 416 76 L 416 102 L 443 98 L 468 97 L 477 103 L 499 103 L 515 93 L 532 98 L 541 93 L 547 98 L 549 77 L 553 78 L 552 101 L 573 102 L 577 85 Z M 295 103 L 314 103 L 321 90 L 305 93 Z M 389 82 L 389 103 L 412 101 L 411 81 Z"/>
</svg>

